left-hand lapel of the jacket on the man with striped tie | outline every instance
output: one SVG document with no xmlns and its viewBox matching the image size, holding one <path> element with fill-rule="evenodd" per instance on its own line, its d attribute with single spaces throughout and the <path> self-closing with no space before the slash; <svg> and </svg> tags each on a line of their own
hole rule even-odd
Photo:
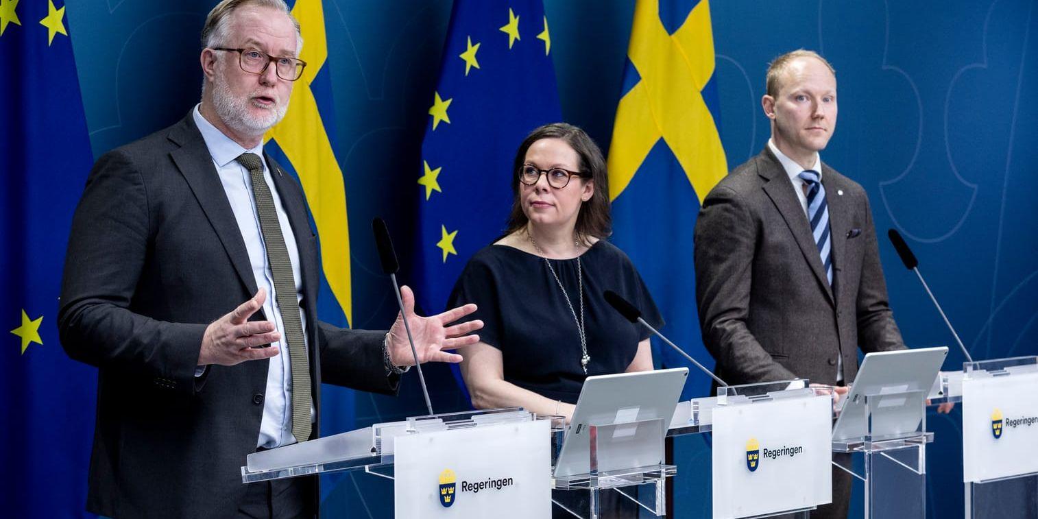
<svg viewBox="0 0 1038 519">
<path fill-rule="evenodd" d="M 786 225 L 789 226 L 794 241 L 800 247 L 803 258 L 811 267 L 811 271 L 815 273 L 815 279 L 825 292 L 829 303 L 835 303 L 832 288 L 829 286 L 828 277 L 822 269 L 822 258 L 818 254 L 818 244 L 815 243 L 815 237 L 811 234 L 808 216 L 804 215 L 803 207 L 800 206 L 800 200 L 797 198 L 796 192 L 793 191 L 793 185 L 789 182 L 789 176 L 786 175 L 786 169 L 782 167 L 782 163 L 767 147 L 757 157 L 757 172 L 768 181 L 764 184 L 764 192 L 771 198 L 771 202 L 775 204 L 786 221 Z"/>
</svg>

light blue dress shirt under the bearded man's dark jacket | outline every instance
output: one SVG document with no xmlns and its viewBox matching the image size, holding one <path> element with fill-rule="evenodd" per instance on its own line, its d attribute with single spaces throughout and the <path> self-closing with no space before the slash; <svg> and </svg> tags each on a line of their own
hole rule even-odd
<svg viewBox="0 0 1038 519">
<path fill-rule="evenodd" d="M 270 168 L 263 155 L 263 144 L 246 149 L 220 132 L 209 120 L 206 120 L 206 117 L 198 110 L 198 106 L 195 106 L 193 115 L 195 125 L 201 132 L 202 139 L 204 139 L 206 146 L 213 159 L 213 165 L 220 175 L 220 183 L 223 184 L 223 191 L 227 194 L 227 201 L 230 202 L 230 210 L 235 214 L 242 239 L 245 241 L 256 286 L 267 291 L 263 312 L 267 320 L 272 321 L 277 330 L 281 332 L 281 339 L 278 343 L 280 353 L 270 359 L 267 372 L 263 421 L 260 422 L 260 438 L 256 441 L 256 446 L 273 448 L 295 443 L 296 437 L 292 435 L 292 368 L 289 364 L 289 344 L 283 331 L 284 324 L 281 322 L 280 308 L 274 294 L 274 275 L 271 273 L 270 262 L 267 261 L 267 249 L 264 246 L 263 233 L 260 228 L 260 216 L 256 213 L 255 199 L 252 194 L 252 177 L 248 169 L 235 159 L 245 153 L 255 154 L 263 158 L 264 180 L 274 196 L 277 219 L 281 223 L 281 235 L 284 237 L 284 245 L 288 247 L 289 257 L 292 260 L 292 274 L 296 282 L 296 300 L 301 301 L 303 281 L 302 273 L 299 270 L 299 248 L 296 246 L 296 236 L 292 231 L 289 216 L 281 204 L 281 197 L 277 189 L 274 188 Z M 227 308 L 227 311 L 231 309 Z M 302 306 L 296 306 L 295 310 L 299 311 L 305 339 L 306 315 Z M 309 348 L 309 345 L 306 347 Z M 199 367 L 198 374 L 200 375 L 200 373 L 201 367 Z M 310 420 L 313 420 L 315 415 L 316 411 L 311 405 Z"/>
</svg>

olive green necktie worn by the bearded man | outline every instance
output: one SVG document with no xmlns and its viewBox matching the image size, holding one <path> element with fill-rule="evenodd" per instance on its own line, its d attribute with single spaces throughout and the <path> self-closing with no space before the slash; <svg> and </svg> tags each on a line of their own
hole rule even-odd
<svg viewBox="0 0 1038 519">
<path fill-rule="evenodd" d="M 306 441 L 310 437 L 310 370 L 299 315 L 299 300 L 296 299 L 292 260 L 284 246 L 274 196 L 263 176 L 263 161 L 255 154 L 242 154 L 237 160 L 252 176 L 252 194 L 260 215 L 260 230 L 267 249 L 267 261 L 270 262 L 270 270 L 274 275 L 274 299 L 281 313 L 282 331 L 289 343 L 289 361 L 292 364 L 292 435 L 298 441 Z"/>
</svg>

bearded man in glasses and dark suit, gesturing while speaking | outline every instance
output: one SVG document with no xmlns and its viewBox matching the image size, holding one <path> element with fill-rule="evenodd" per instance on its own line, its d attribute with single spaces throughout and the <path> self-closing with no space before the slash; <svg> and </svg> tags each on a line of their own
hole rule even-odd
<svg viewBox="0 0 1038 519">
<path fill-rule="evenodd" d="M 76 210 L 58 326 L 99 368 L 89 512 L 312 517 L 317 477 L 243 485 L 261 449 L 316 438 L 321 382 L 393 393 L 413 364 L 458 362 L 475 305 L 390 331 L 317 320 L 320 262 L 299 184 L 263 153 L 305 63 L 281 0 L 224 0 L 201 33 L 201 103 L 109 152 Z M 405 367 L 402 367 L 405 366 Z"/>
</svg>

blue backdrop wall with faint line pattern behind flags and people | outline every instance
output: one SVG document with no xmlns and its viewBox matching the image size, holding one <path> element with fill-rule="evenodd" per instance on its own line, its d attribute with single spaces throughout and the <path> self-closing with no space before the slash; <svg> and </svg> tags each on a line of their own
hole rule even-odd
<svg viewBox="0 0 1038 519">
<path fill-rule="evenodd" d="M 197 102 L 198 32 L 213 3 L 67 2 L 94 156 L 175 121 Z M 584 127 L 605 149 L 634 2 L 544 3 L 564 118 Z M 690 8 L 696 2 L 685 3 Z M 1033 94 L 1038 35 L 1031 34 L 1038 27 L 1036 3 L 723 0 L 711 5 L 717 119 L 729 165 L 757 154 L 768 137 L 760 109 L 767 62 L 800 47 L 822 53 L 837 69 L 841 101 L 838 130 L 823 160 L 865 186 L 879 233 L 893 227 L 905 236 L 978 358 L 1038 352 L 1038 99 Z M 337 127 L 332 145 L 350 200 L 353 325 L 384 328 L 393 302 L 379 274 L 368 222 L 386 218 L 400 235 L 399 255 L 406 265 L 414 241 L 406 237 L 416 228 L 413 185 L 452 2 L 325 0 L 324 6 Z M 82 183 L 86 173 L 74 182 Z M 880 256 L 906 342 L 952 346 L 914 275 L 887 243 L 880 244 Z M 691 275 L 691 257 L 688 266 Z M 408 282 L 407 273 L 402 280 Z M 665 318 L 694 320 L 692 299 L 689 294 L 685 313 Z M 19 325 L 19 316 L 0 319 L 4 329 Z M 19 344 L 8 335 L 3 348 Z M 945 368 L 961 361 L 953 349 Z M 427 376 L 438 384 L 437 410 L 466 405 L 449 370 L 433 366 Z M 701 385 L 701 394 L 708 388 L 704 378 L 693 377 L 692 383 Z M 360 427 L 422 412 L 415 386 L 406 380 L 399 399 L 332 387 L 325 395 L 326 402 L 349 402 L 339 407 L 352 406 L 353 415 L 342 422 Z M 960 419 L 958 410 L 928 419 L 936 432 L 928 449 L 930 517 L 961 514 Z M 709 462 L 700 439 L 682 440 L 677 450 L 685 464 Z M 707 510 L 709 487 L 693 472 L 679 474 L 676 487 L 687 504 L 678 507 L 676 517 L 699 517 Z M 329 482 L 325 510 L 389 517 L 385 501 L 391 485 L 375 480 Z"/>
</svg>

